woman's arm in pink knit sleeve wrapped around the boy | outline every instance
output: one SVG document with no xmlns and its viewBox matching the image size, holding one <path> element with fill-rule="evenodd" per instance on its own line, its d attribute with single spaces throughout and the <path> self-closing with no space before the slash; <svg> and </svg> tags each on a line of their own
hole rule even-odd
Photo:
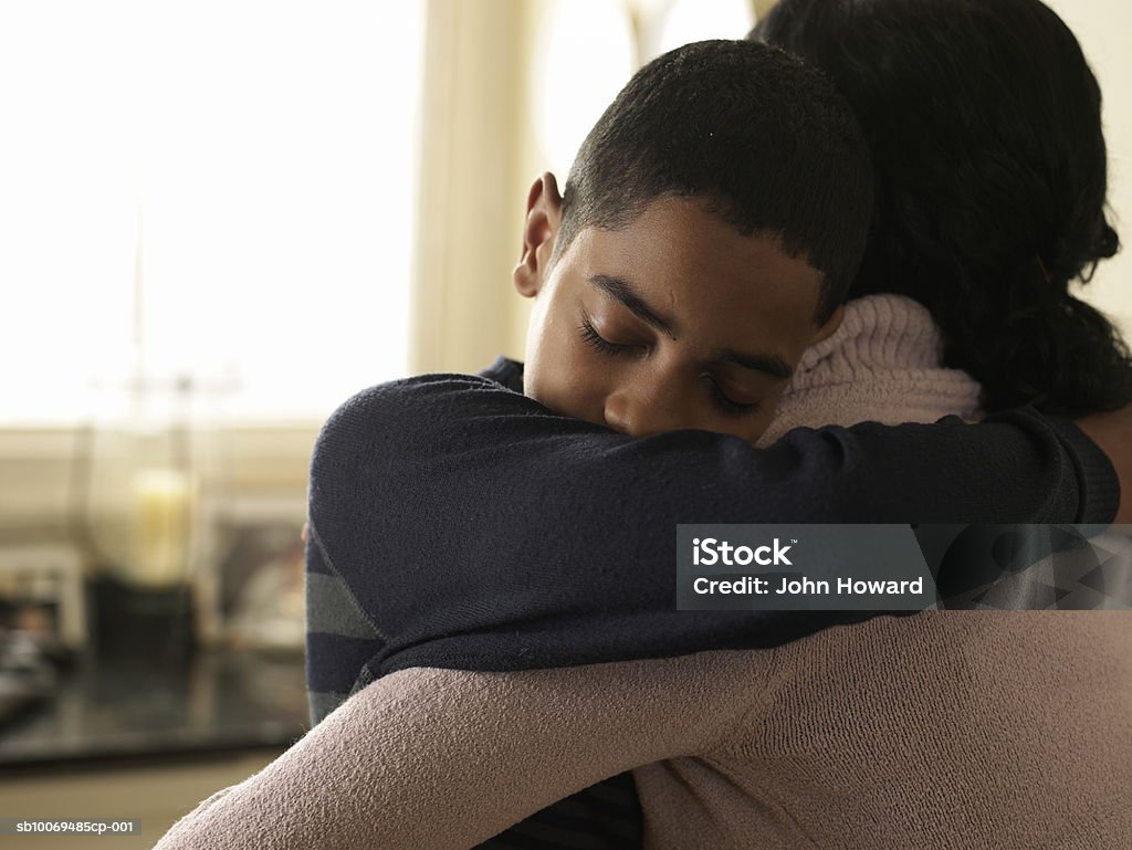
<svg viewBox="0 0 1132 850">
<path fill-rule="evenodd" d="M 154 850 L 470 848 L 607 776 L 709 746 L 749 711 L 744 694 L 765 663 L 706 653 L 581 670 L 402 670 L 209 797 Z"/>
</svg>

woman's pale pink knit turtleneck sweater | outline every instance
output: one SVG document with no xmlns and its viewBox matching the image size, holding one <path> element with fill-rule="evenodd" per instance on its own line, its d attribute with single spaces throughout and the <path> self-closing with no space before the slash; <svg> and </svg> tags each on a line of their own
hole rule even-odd
<svg viewBox="0 0 1132 850">
<path fill-rule="evenodd" d="M 976 415 L 925 319 L 850 304 L 777 432 Z M 655 850 L 1125 850 L 1132 615 L 926 612 L 767 651 L 405 670 L 157 848 L 468 848 L 629 769 Z"/>
</svg>

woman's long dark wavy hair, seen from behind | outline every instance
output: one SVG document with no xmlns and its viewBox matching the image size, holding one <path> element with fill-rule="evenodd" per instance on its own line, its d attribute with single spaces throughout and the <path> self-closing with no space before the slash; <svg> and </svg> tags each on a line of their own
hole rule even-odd
<svg viewBox="0 0 1132 850">
<path fill-rule="evenodd" d="M 781 0 L 751 33 L 824 70 L 873 154 L 852 297 L 915 298 L 988 411 L 1132 401 L 1132 358 L 1074 298 L 1118 248 L 1105 220 L 1100 88 L 1038 0 Z"/>
</svg>

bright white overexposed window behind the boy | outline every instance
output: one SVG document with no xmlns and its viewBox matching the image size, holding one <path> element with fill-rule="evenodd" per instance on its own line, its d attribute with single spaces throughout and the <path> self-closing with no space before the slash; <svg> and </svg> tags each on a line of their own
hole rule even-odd
<svg viewBox="0 0 1132 850">
<path fill-rule="evenodd" d="M 422 7 L 0 5 L 0 424 L 186 378 L 321 420 L 404 375 Z"/>
</svg>

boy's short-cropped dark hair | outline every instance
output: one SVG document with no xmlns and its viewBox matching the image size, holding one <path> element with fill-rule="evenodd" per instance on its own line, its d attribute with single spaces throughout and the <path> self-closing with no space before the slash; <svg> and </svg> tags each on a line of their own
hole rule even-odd
<svg viewBox="0 0 1132 850">
<path fill-rule="evenodd" d="M 777 234 L 823 274 L 816 319 L 841 303 L 873 207 L 868 147 L 816 70 L 764 44 L 705 41 L 654 59 L 582 143 L 556 254 L 660 197 L 703 197 L 744 234 Z"/>
</svg>

